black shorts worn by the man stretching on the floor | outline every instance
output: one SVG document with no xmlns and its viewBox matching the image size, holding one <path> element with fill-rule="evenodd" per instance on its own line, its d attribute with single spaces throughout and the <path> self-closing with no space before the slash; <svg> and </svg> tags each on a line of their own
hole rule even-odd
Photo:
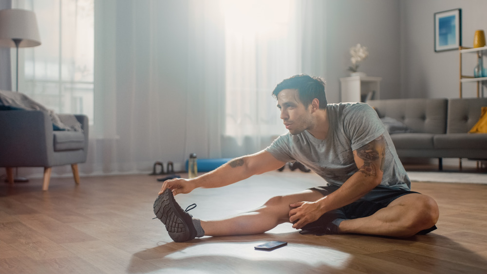
<svg viewBox="0 0 487 274">
<path fill-rule="evenodd" d="M 317 186 L 310 189 L 316 190 L 323 194 L 323 196 L 326 196 L 337 190 L 338 187 L 339 186 L 328 184 L 327 186 Z M 386 207 L 395 199 L 411 193 L 419 194 L 419 192 L 402 190 L 379 184 L 359 200 L 338 208 L 338 210 L 347 217 L 346 219 L 368 217 L 374 214 L 377 210 Z"/>
</svg>

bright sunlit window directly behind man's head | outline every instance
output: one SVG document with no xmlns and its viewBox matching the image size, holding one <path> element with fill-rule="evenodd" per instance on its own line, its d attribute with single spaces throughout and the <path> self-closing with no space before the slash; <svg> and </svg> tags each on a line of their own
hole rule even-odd
<svg viewBox="0 0 487 274">
<path fill-rule="evenodd" d="M 283 79 L 301 71 L 299 4 L 294 0 L 223 1 L 223 10 L 225 134 L 281 134 L 285 128 L 271 92 Z"/>
</svg>

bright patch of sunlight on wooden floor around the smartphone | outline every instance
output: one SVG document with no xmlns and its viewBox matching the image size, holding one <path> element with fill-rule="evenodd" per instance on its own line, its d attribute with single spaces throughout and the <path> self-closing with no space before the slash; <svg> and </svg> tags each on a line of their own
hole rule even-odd
<svg viewBox="0 0 487 274">
<path fill-rule="evenodd" d="M 287 246 L 273 251 L 255 250 L 254 246 L 265 241 L 253 241 L 245 243 L 204 243 L 198 244 L 166 256 L 170 259 L 185 259 L 197 256 L 226 256 L 237 257 L 251 261 L 287 261 L 297 262 L 312 267 L 327 265 L 336 269 L 343 269 L 347 266 L 352 256 L 323 246 L 311 246 L 307 244 L 289 243 Z M 297 253 L 306 253 L 310 256 L 296 256 Z M 311 256 L 312 255 L 312 256 Z"/>
</svg>

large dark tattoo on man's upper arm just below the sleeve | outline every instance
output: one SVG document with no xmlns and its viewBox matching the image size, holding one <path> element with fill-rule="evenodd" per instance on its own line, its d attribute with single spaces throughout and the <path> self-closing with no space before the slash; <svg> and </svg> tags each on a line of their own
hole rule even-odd
<svg viewBox="0 0 487 274">
<path fill-rule="evenodd" d="M 380 161 L 380 170 L 384 171 L 384 158 L 385 158 L 385 141 L 381 135 L 369 144 L 357 149 L 357 156 L 364 161 L 364 164 L 358 169 L 358 171 L 368 176 L 377 176 L 378 164 L 376 161 Z M 375 162 L 375 164 L 374 164 Z"/>
</svg>

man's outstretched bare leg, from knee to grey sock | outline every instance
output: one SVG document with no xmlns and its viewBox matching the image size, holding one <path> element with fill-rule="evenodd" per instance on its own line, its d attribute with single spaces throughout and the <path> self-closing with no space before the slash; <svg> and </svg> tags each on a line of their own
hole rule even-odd
<svg viewBox="0 0 487 274">
<path fill-rule="evenodd" d="M 221 220 L 201 221 L 205 236 L 231 236 L 260 234 L 278 224 L 289 222 L 290 204 L 300 201 L 317 201 L 323 195 L 318 191 L 305 190 L 299 193 L 271 198 L 261 207 Z"/>
</svg>

